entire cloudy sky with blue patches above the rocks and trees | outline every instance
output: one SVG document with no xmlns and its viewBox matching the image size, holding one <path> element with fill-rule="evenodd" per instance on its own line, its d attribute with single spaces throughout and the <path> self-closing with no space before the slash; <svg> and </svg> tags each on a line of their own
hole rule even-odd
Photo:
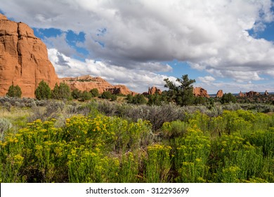
<svg viewBox="0 0 274 197">
<path fill-rule="evenodd" d="M 188 74 L 210 94 L 274 91 L 270 0 L 0 0 L 0 12 L 34 29 L 59 77 L 143 92 Z"/>
</svg>

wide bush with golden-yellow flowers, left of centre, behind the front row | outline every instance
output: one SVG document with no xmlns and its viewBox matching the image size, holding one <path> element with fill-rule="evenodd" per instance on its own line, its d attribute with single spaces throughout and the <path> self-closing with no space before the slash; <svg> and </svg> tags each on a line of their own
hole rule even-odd
<svg viewBox="0 0 274 197">
<path fill-rule="evenodd" d="M 150 123 L 143 120 L 129 123 L 119 117 L 77 115 L 67 119 L 64 129 L 65 138 L 70 141 L 93 148 L 103 146 L 106 152 L 125 152 L 148 143 L 150 127 Z"/>
</svg>

